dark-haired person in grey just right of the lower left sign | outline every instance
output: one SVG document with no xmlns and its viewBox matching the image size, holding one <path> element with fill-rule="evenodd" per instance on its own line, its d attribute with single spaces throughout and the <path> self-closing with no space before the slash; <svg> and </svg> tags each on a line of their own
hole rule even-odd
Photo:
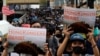
<svg viewBox="0 0 100 56">
<path fill-rule="evenodd" d="M 48 43 L 48 48 L 51 49 L 52 56 L 56 56 L 56 52 L 57 52 L 57 48 L 58 48 L 58 44 L 59 44 L 54 33 L 55 33 L 55 27 L 54 27 L 54 25 L 50 24 L 47 27 L 46 42 Z"/>
</svg>

